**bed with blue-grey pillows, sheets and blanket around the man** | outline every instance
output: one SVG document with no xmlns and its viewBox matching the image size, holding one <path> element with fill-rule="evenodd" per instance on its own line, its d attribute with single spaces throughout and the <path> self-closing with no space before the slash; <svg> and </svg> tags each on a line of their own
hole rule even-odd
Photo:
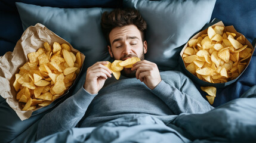
<svg viewBox="0 0 256 143">
<path fill-rule="evenodd" d="M 158 64 L 159 70 L 184 72 L 177 62 L 179 52 L 193 35 L 204 26 L 212 24 L 214 18 L 223 21 L 226 26 L 233 25 L 255 47 L 256 2 L 253 0 L 242 3 L 239 0 L 182 2 L 4 0 L 0 2 L 0 55 L 4 56 L 6 52 L 13 51 L 27 27 L 42 23 L 85 54 L 87 61 L 84 64 L 83 71 L 85 71 L 95 61 L 110 60 L 106 48 L 103 48 L 106 47 L 106 42 L 100 32 L 100 15 L 104 11 L 121 7 L 138 9 L 147 21 L 146 39 L 152 51 L 147 53 L 146 59 Z M 161 48 L 156 48 L 157 46 Z M 131 136 L 134 136 L 133 140 L 129 140 L 131 142 L 167 142 L 171 141 L 169 139 L 173 142 L 255 142 L 255 62 L 254 52 L 251 63 L 242 76 L 235 83 L 217 89 L 213 106 L 218 108 L 205 114 L 174 116 L 169 120 L 169 128 L 153 117 L 138 116 L 113 120 L 97 128 L 73 128 L 47 136 L 39 142 L 110 142 L 109 138 L 113 139 L 112 142 L 125 142 L 131 139 Z M 81 86 L 84 77 L 85 75 L 82 74 L 76 86 Z M 205 98 L 206 93 L 200 90 L 200 85 L 196 87 Z M 78 89 L 74 88 L 69 95 L 76 90 Z M 29 119 L 21 121 L 5 99 L 0 97 L 0 142 L 35 142 L 38 122 L 42 116 L 66 98 L 61 98 L 54 105 L 36 111 Z M 121 122 L 124 123 L 120 124 L 123 127 L 127 126 L 125 123 L 132 123 L 133 128 L 123 132 L 122 128 L 117 126 Z M 144 132 L 145 130 L 149 132 Z M 108 133 L 107 138 L 98 137 L 106 133 Z"/>
</svg>

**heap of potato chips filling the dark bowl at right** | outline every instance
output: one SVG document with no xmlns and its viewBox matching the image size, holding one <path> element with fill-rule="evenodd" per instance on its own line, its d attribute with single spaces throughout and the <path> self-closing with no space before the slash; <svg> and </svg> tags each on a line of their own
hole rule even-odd
<svg viewBox="0 0 256 143">
<path fill-rule="evenodd" d="M 236 79 L 247 66 L 252 48 L 245 36 L 224 32 L 224 26 L 210 26 L 206 34 L 191 39 L 182 55 L 185 67 L 199 79 L 225 83 Z"/>
</svg>

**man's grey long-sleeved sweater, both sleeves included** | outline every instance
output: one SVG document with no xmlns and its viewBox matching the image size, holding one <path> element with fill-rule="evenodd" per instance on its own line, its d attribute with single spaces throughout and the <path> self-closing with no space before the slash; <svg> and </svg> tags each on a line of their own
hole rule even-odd
<svg viewBox="0 0 256 143">
<path fill-rule="evenodd" d="M 155 116 L 165 123 L 169 115 L 205 113 L 214 108 L 184 74 L 164 71 L 161 78 L 153 90 L 136 78 L 124 76 L 107 79 L 97 95 L 81 88 L 41 119 L 37 138 L 74 127 L 95 127 L 134 114 Z"/>
</svg>

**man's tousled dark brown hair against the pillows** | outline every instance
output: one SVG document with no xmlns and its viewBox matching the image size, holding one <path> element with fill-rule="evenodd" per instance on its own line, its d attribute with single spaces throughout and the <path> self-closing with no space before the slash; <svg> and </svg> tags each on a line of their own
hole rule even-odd
<svg viewBox="0 0 256 143">
<path fill-rule="evenodd" d="M 101 16 L 101 30 L 110 45 L 109 33 L 115 27 L 123 27 L 128 25 L 137 26 L 141 33 L 141 39 L 144 41 L 144 32 L 147 29 L 146 21 L 141 17 L 138 10 L 134 8 L 115 9 L 110 13 L 104 12 Z"/>
</svg>

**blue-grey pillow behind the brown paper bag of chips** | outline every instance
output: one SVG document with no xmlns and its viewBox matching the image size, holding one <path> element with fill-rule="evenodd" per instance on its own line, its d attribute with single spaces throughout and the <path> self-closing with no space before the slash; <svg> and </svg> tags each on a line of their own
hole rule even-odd
<svg viewBox="0 0 256 143">
<path fill-rule="evenodd" d="M 107 43 L 101 33 L 100 20 L 110 8 L 53 8 L 17 2 L 23 30 L 36 23 L 69 42 L 85 54 L 85 69 L 97 61 L 110 60 Z"/>
</svg>

